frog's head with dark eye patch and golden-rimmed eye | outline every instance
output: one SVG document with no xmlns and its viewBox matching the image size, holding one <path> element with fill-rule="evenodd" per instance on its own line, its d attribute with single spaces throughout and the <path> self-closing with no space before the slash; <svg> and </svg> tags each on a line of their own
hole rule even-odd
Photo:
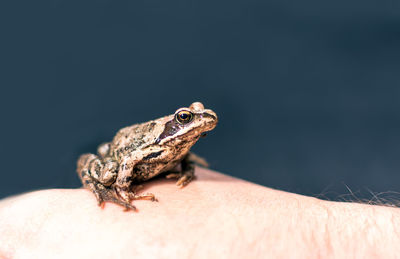
<svg viewBox="0 0 400 259">
<path fill-rule="evenodd" d="M 205 132 L 214 129 L 218 122 L 215 112 L 205 109 L 200 102 L 180 108 L 167 118 L 164 130 L 156 140 L 157 144 L 169 141 L 194 144 Z"/>
</svg>

